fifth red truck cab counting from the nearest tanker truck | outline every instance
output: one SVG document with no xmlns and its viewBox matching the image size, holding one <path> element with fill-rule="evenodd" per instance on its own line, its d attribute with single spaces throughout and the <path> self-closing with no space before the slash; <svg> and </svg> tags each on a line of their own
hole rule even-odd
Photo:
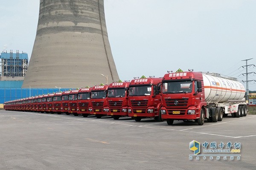
<svg viewBox="0 0 256 170">
<path fill-rule="evenodd" d="M 81 114 L 83 117 L 89 116 L 93 108 L 91 107 L 90 95 L 92 88 L 80 88 L 77 96 L 77 114 Z"/>
</svg>

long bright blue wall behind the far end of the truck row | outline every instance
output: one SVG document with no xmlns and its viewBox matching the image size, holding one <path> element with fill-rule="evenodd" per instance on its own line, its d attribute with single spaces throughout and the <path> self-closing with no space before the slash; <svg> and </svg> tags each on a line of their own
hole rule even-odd
<svg viewBox="0 0 256 170">
<path fill-rule="evenodd" d="M 69 88 L 0 88 L 0 104 L 15 99 L 23 99 L 29 96 L 50 94 L 59 91 L 68 91 Z"/>
</svg>

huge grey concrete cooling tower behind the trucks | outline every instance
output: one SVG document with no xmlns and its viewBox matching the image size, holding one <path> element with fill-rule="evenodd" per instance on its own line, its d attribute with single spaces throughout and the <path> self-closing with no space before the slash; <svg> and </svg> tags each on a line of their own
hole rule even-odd
<svg viewBox="0 0 256 170">
<path fill-rule="evenodd" d="M 104 76 L 102 76 L 103 74 Z M 118 81 L 103 0 L 40 0 L 22 88 L 78 88 Z"/>
</svg>

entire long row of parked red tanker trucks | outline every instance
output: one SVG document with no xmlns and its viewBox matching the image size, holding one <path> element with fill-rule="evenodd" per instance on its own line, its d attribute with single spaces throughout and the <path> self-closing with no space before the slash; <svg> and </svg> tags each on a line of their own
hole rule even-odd
<svg viewBox="0 0 256 170">
<path fill-rule="evenodd" d="M 79 90 L 46 94 L 4 103 L 5 110 L 66 113 L 87 117 L 131 116 L 166 120 L 192 120 L 203 125 L 223 117 L 247 115 L 244 86 L 235 78 L 215 73 L 171 72 L 164 77 L 134 78 Z"/>
</svg>

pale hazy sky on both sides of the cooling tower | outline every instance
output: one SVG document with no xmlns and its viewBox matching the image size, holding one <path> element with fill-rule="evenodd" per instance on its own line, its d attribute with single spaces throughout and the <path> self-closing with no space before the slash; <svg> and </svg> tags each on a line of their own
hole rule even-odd
<svg viewBox="0 0 256 170">
<path fill-rule="evenodd" d="M 4 3 L 3 3 L 3 2 Z M 32 53 L 39 0 L 1 0 L 1 51 Z M 163 77 L 179 68 L 245 81 L 256 65 L 256 0 L 105 0 L 120 79 Z M 252 65 L 248 72 L 256 72 Z M 248 75 L 256 80 L 256 74 Z M 245 83 L 243 83 L 246 87 Z M 256 90 L 256 82 L 249 83 Z"/>
</svg>

